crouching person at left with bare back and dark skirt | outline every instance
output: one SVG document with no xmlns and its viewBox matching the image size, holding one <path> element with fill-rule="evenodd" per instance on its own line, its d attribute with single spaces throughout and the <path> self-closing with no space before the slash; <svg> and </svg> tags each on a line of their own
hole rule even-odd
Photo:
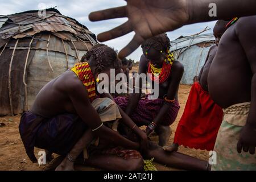
<svg viewBox="0 0 256 182">
<path fill-rule="evenodd" d="M 132 154 L 129 156 L 131 159 L 129 161 L 108 152 L 101 154 L 104 158 L 111 156 L 113 160 L 106 160 L 106 163 L 111 163 L 109 166 L 113 168 L 106 168 L 104 166 L 106 163 L 100 158 L 98 158 L 100 163 L 99 166 L 96 165 L 97 167 L 112 170 L 119 169 L 121 166 L 133 170 L 142 169 L 142 157 L 135 151 L 139 150 L 139 143 L 122 137 L 103 123 L 122 117 L 122 113 L 119 113 L 117 105 L 112 100 L 104 98 L 104 94 L 97 93 L 95 84 L 98 81 L 98 74 L 110 75 L 110 68 L 121 69 L 117 53 L 106 46 L 95 48 L 90 53 L 92 55 L 88 62 L 76 64 L 71 71 L 48 82 L 36 96 L 30 111 L 22 115 L 19 131 L 27 155 L 32 162 L 36 162 L 34 147 L 38 147 L 67 156 L 67 159 L 72 160 L 73 156 L 68 154 L 69 151 L 86 131 L 92 130 L 96 137 L 108 140 L 114 147 L 122 147 L 122 152 Z M 134 132 L 140 136 L 139 138 L 147 140 L 146 134 L 133 121 L 123 121 L 127 121 L 124 124 L 133 128 Z M 129 148 L 129 150 L 123 150 L 123 148 Z M 118 148 L 118 150 L 121 149 Z"/>
</svg>

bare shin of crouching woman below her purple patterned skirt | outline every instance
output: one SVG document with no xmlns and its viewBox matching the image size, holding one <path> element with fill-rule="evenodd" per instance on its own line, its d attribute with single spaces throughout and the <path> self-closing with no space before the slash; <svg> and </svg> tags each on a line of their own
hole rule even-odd
<svg viewBox="0 0 256 182">
<path fill-rule="evenodd" d="M 158 133 L 159 136 L 158 144 L 163 147 L 167 145 L 172 134 L 172 129 L 170 126 L 159 125 L 156 133 Z"/>
</svg>

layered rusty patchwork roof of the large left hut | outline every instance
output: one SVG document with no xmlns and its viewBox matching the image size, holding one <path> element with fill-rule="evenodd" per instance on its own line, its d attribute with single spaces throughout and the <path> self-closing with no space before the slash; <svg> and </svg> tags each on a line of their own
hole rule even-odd
<svg viewBox="0 0 256 182">
<path fill-rule="evenodd" d="M 97 43 L 96 36 L 77 20 L 61 15 L 56 9 L 47 9 L 45 15 L 39 10 L 0 16 L 0 38 L 3 40 L 34 36 L 49 31 L 61 39 L 71 40 L 71 33 L 85 42 Z"/>
</svg>

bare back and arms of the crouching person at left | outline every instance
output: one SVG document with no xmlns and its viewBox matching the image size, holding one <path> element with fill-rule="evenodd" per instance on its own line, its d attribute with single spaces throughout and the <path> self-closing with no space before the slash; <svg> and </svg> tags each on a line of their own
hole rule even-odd
<svg viewBox="0 0 256 182">
<path fill-rule="evenodd" d="M 98 73 L 96 72 L 96 65 L 94 62 L 95 61 L 89 60 L 90 68 L 92 69 L 92 73 L 96 80 Z M 106 69 L 101 73 L 110 75 L 110 69 Z M 110 94 L 102 94 L 101 97 L 111 96 Z M 88 125 L 89 129 L 96 129 L 101 125 L 101 119 L 90 103 L 85 86 L 72 71 L 67 71 L 54 80 L 48 82 L 48 84 L 40 90 L 38 96 L 36 96 L 36 100 L 34 105 L 31 107 L 30 112 L 46 118 L 51 118 L 62 113 L 73 113 L 78 114 L 82 121 Z M 121 111 L 121 115 L 123 118 L 126 118 L 122 119 L 122 122 L 127 127 L 132 128 L 135 125 L 135 123 L 131 121 L 123 111 Z M 147 135 L 137 126 L 134 128 L 134 132 L 141 138 L 142 150 L 146 150 Z M 88 137 L 88 142 L 90 142 L 93 138 L 92 135 L 93 137 L 103 138 L 115 146 L 122 146 L 133 150 L 139 150 L 140 148 L 139 143 L 131 142 L 131 140 L 122 137 L 117 132 L 105 126 L 102 126 L 97 131 L 92 132 L 91 135 L 84 134 L 83 137 Z M 83 137 L 82 139 L 84 139 Z M 86 142 L 84 143 L 80 141 L 78 143 L 80 143 L 78 144 L 78 147 L 82 149 L 87 146 Z M 76 150 L 76 152 L 77 151 L 78 150 Z M 74 157 L 76 158 L 79 154 L 74 155 Z"/>
</svg>

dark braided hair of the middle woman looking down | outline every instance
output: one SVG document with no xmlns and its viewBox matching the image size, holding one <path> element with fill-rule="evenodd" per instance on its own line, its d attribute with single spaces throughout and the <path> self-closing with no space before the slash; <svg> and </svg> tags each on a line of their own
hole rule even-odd
<svg viewBox="0 0 256 182">
<path fill-rule="evenodd" d="M 167 49 L 171 48 L 171 42 L 170 39 L 168 38 L 167 34 L 160 34 L 160 35 L 156 35 L 150 39 L 145 40 L 142 43 L 142 48 L 146 48 L 146 47 L 154 47 L 157 50 L 163 50 L 163 51 L 167 51 Z"/>
</svg>

